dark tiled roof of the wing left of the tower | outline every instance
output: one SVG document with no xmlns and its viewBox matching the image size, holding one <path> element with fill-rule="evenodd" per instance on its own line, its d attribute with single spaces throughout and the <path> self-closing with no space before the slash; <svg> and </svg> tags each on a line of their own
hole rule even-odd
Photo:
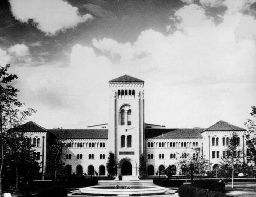
<svg viewBox="0 0 256 197">
<path fill-rule="evenodd" d="M 48 129 L 60 139 L 108 139 L 108 129 Z"/>
</svg>

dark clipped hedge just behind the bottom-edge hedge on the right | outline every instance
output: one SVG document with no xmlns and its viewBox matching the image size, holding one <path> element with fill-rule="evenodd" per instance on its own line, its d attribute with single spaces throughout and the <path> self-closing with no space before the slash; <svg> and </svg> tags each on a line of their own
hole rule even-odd
<svg viewBox="0 0 256 197">
<path fill-rule="evenodd" d="M 225 192 L 225 183 L 222 180 L 194 180 L 193 186 L 210 191 Z"/>
</svg>

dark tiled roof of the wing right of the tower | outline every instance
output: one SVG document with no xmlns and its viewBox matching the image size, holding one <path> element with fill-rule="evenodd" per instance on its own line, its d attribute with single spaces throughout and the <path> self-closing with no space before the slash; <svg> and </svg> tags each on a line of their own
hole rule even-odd
<svg viewBox="0 0 256 197">
<path fill-rule="evenodd" d="M 202 138 L 204 129 L 145 129 L 146 138 Z"/>
</svg>

